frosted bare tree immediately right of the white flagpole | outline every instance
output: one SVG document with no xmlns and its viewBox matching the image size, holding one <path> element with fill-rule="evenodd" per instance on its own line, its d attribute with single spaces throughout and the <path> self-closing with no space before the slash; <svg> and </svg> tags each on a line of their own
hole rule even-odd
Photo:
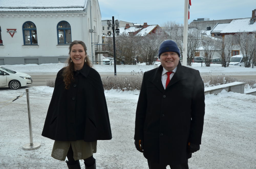
<svg viewBox="0 0 256 169">
<path fill-rule="evenodd" d="M 201 44 L 201 31 L 197 28 L 188 29 L 188 48 L 187 48 L 187 64 L 192 65 L 192 60 L 195 57 L 195 52 Z"/>
</svg>

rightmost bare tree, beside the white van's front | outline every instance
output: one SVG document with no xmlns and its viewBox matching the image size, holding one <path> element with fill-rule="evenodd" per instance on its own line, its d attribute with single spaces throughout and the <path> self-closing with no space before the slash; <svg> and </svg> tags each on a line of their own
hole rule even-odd
<svg viewBox="0 0 256 169">
<path fill-rule="evenodd" d="M 235 35 L 239 43 L 238 47 L 244 56 L 244 67 L 250 67 L 253 56 L 255 55 L 255 32 L 241 32 Z"/>
</svg>

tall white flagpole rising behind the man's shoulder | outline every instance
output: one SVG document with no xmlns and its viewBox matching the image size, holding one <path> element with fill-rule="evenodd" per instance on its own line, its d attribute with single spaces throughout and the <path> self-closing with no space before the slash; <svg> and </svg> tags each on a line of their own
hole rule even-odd
<svg viewBox="0 0 256 169">
<path fill-rule="evenodd" d="M 188 3 L 185 0 L 184 8 L 184 30 L 183 30 L 183 66 L 187 66 L 187 48 L 188 48 Z"/>
</svg>

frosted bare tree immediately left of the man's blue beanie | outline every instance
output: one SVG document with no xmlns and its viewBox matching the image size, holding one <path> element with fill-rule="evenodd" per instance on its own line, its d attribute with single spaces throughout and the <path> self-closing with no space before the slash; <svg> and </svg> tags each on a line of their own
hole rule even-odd
<svg viewBox="0 0 256 169">
<path fill-rule="evenodd" d="M 159 46 L 164 39 L 165 37 L 159 34 L 148 34 L 141 37 L 137 48 L 139 60 L 145 62 L 146 65 L 152 65 L 158 57 Z"/>
</svg>

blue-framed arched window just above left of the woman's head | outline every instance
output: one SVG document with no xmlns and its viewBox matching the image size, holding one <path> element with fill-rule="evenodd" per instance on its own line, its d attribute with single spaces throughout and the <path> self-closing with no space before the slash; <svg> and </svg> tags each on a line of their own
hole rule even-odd
<svg viewBox="0 0 256 169">
<path fill-rule="evenodd" d="M 58 44 L 71 43 L 71 27 L 67 21 L 60 21 L 57 25 Z"/>
</svg>

